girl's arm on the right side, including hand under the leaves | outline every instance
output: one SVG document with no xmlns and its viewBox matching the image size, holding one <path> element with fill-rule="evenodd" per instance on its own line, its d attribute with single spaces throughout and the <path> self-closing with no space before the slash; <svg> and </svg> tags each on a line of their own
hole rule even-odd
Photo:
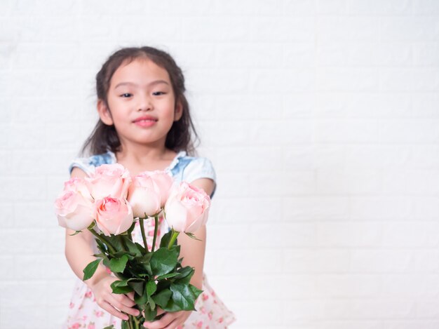
<svg viewBox="0 0 439 329">
<path fill-rule="evenodd" d="M 215 183 L 210 178 L 200 178 L 191 182 L 192 185 L 204 189 L 204 191 L 211 195 Z M 205 239 L 206 239 L 206 229 L 203 225 L 198 231 L 194 232 L 197 239 L 201 241 L 191 239 L 184 233 L 180 233 L 177 241 L 180 244 L 180 257 L 184 257 L 182 266 L 190 266 L 195 268 L 195 273 L 191 278 L 191 284 L 196 286 L 196 288 L 201 289 L 203 283 L 203 267 L 204 267 L 204 255 L 205 255 Z M 159 312 L 158 314 L 161 314 Z M 191 311 L 178 311 L 169 312 L 163 316 L 158 321 L 145 322 L 144 326 L 148 329 L 175 329 L 178 325 L 182 325 L 184 321 L 189 318 Z"/>
</svg>

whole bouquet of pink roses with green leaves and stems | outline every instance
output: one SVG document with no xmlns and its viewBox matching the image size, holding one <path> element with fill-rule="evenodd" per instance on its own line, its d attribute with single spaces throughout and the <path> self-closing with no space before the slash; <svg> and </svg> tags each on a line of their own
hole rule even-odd
<svg viewBox="0 0 439 329">
<path fill-rule="evenodd" d="M 128 314 L 122 328 L 144 328 L 142 323 L 156 318 L 157 307 L 164 311 L 192 311 L 201 290 L 189 282 L 193 267 L 182 267 L 177 236 L 194 231 L 208 219 L 210 197 L 203 189 L 180 182 L 163 171 L 144 172 L 135 177 L 120 164 L 102 165 L 84 179 L 72 177 L 55 200 L 60 226 L 79 234 L 88 229 L 94 236 L 96 260 L 83 269 L 86 281 L 100 262 L 119 278 L 113 293 L 134 293 L 139 316 Z M 158 216 L 168 222 L 170 231 L 156 249 Z M 144 221 L 154 220 L 154 237 L 149 250 Z M 139 222 L 142 243 L 133 241 Z M 112 328 L 108 327 L 108 328 Z"/>
</svg>

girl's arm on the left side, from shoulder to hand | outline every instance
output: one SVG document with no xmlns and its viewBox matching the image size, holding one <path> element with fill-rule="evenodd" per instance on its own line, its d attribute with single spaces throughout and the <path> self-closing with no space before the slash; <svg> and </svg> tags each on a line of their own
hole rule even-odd
<svg viewBox="0 0 439 329">
<path fill-rule="evenodd" d="M 74 168 L 72 170 L 72 177 L 86 177 L 86 173 L 79 168 Z M 88 263 L 96 260 L 93 256 L 94 251 L 93 245 L 93 234 L 87 229 L 84 229 L 80 234 L 74 236 L 74 231 L 71 229 L 66 229 L 65 236 L 65 257 L 70 267 L 74 271 L 74 274 L 78 276 L 81 280 L 83 278 L 83 269 L 88 265 Z M 134 316 L 139 315 L 137 309 L 132 307 L 135 305 L 132 299 L 128 298 L 126 295 L 113 294 L 110 285 L 117 278 L 110 276 L 107 273 L 105 267 L 100 264 L 100 266 L 95 271 L 95 274 L 84 281 L 88 288 L 92 290 L 93 295 L 95 295 L 97 304 L 102 307 L 105 311 L 110 314 L 117 316 L 123 320 L 128 320 L 126 314 L 121 313 L 121 311 L 132 314 Z"/>
</svg>

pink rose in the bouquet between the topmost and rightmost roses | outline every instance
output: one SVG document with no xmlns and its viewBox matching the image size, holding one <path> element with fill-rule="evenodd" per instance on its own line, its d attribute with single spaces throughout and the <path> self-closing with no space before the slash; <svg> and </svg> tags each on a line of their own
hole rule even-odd
<svg viewBox="0 0 439 329">
<path fill-rule="evenodd" d="M 164 206 L 173 179 L 164 171 L 145 171 L 133 177 L 128 189 L 128 202 L 133 207 L 134 217 L 157 215 Z"/>
</svg>

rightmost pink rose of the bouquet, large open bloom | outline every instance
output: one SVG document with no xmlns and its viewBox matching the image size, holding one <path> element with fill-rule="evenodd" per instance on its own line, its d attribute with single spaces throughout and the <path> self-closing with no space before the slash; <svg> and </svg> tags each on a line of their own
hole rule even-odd
<svg viewBox="0 0 439 329">
<path fill-rule="evenodd" d="M 173 187 L 165 205 L 166 221 L 175 231 L 194 233 L 208 220 L 210 197 L 187 182 Z"/>
</svg>

